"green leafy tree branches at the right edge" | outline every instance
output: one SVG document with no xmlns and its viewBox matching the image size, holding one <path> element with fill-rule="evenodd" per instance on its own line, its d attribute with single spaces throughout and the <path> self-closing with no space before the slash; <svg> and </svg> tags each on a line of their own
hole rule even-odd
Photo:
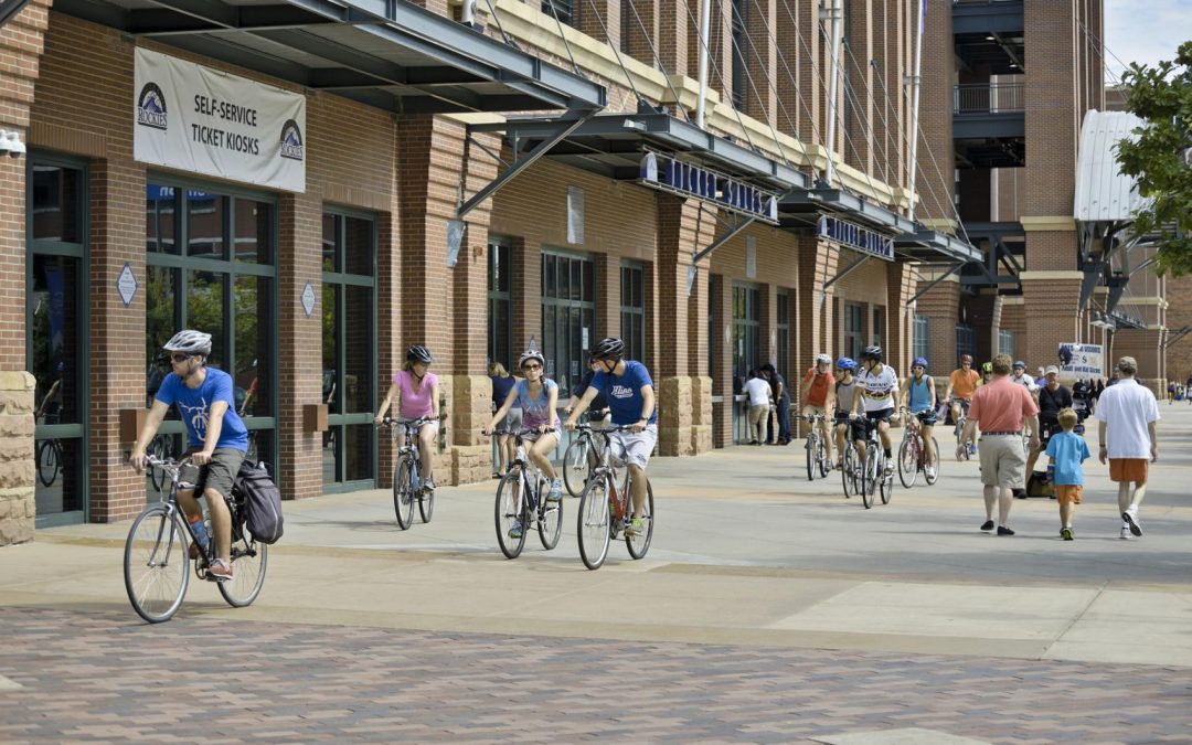
<svg viewBox="0 0 1192 745">
<path fill-rule="evenodd" d="M 1122 75 L 1126 110 L 1146 120 L 1118 144 L 1122 173 L 1151 200 L 1135 217 L 1135 235 L 1157 236 L 1157 269 L 1192 273 L 1192 42 L 1173 61 L 1131 64 Z"/>
</svg>

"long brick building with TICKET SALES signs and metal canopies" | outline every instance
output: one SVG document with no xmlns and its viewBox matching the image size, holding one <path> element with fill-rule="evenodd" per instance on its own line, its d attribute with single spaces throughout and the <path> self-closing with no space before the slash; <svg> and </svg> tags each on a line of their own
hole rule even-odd
<svg viewBox="0 0 1192 745">
<path fill-rule="evenodd" d="M 696 4 L 497 0 L 464 25 L 474 8 L 441 1 L 32 0 L 0 26 L 0 124 L 27 147 L 0 160 L 0 542 L 30 538 L 35 505 L 111 521 L 153 497 L 124 464 L 182 327 L 215 335 L 287 498 L 387 483 L 372 417 L 411 343 L 442 381 L 441 483 L 489 473 L 485 365 L 530 337 L 564 398 L 588 344 L 626 339 L 663 455 L 732 443 L 734 378 L 762 362 L 797 384 L 814 354 L 879 341 L 906 370 L 913 265 L 975 253 L 905 217 L 920 4 L 848 7 L 833 87 L 818 0 L 718 5 L 699 128 Z M 250 154 L 147 159 L 169 93 L 137 85 L 149 60 L 296 106 L 280 147 L 302 187 L 243 175 Z M 217 98 L 168 116 L 253 118 Z M 197 120 L 200 145 L 247 142 Z M 181 422 L 162 432 L 181 447 Z"/>
</svg>

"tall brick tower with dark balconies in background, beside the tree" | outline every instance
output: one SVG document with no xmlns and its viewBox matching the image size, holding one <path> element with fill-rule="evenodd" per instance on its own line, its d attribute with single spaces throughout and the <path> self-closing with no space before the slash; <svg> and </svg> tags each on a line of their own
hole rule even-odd
<svg viewBox="0 0 1192 745">
<path fill-rule="evenodd" d="M 1007 352 L 1033 371 L 1079 342 L 1106 360 L 1135 355 L 1141 378 L 1167 375 L 1166 280 L 1128 228 L 1075 219 L 1079 149 L 1098 147 L 1081 128 L 1106 110 L 1103 24 L 1099 0 L 931 5 L 923 137 L 935 162 L 919 168 L 956 175 L 924 193 L 923 216 L 985 256 L 919 272 L 918 328 L 937 368 Z"/>
</svg>

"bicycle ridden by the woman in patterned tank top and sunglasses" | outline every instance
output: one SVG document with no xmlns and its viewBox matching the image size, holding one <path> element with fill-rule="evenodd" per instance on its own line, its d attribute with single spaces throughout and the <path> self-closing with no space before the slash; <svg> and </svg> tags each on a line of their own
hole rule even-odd
<svg viewBox="0 0 1192 745">
<path fill-rule="evenodd" d="M 497 502 L 493 517 L 497 523 L 497 544 L 508 559 L 516 559 L 526 546 L 526 533 L 538 528 L 538 538 L 547 551 L 559 545 L 563 534 L 563 502 L 546 498 L 551 482 L 526 457 L 522 440 L 536 429 L 497 429 L 493 435 L 513 435 L 514 461 L 497 484 Z"/>
</svg>

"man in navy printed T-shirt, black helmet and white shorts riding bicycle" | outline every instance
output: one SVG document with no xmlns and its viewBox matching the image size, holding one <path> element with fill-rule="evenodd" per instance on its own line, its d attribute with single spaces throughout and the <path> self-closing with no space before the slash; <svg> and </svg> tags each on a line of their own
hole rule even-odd
<svg viewBox="0 0 1192 745">
<path fill-rule="evenodd" d="M 591 359 L 600 368 L 592 375 L 591 385 L 575 404 L 564 427 L 576 428 L 576 420 L 583 414 L 596 393 L 608 398 L 613 412 L 613 424 L 629 427 L 627 432 L 609 433 L 613 455 L 622 460 L 633 477 L 633 520 L 626 526 L 626 535 L 645 532 L 641 515 L 646 505 L 646 465 L 658 442 L 658 412 L 654 409 L 654 381 L 650 371 L 637 360 L 625 359 L 625 342 L 620 339 L 602 339 L 591 348 Z"/>
</svg>

